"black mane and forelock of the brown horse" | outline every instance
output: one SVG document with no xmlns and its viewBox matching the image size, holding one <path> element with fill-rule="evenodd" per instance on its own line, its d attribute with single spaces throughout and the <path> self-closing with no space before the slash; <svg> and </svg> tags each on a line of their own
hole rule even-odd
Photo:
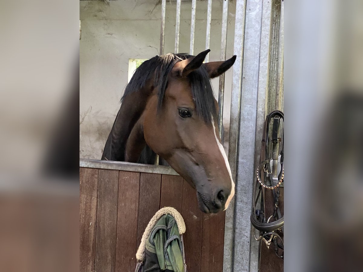
<svg viewBox="0 0 363 272">
<path fill-rule="evenodd" d="M 143 62 L 135 70 L 129 84 L 127 84 L 121 102 L 127 95 L 141 90 L 147 81 L 152 80 L 153 85 L 158 88 L 158 108 L 160 108 L 163 104 L 165 90 L 168 86 L 168 75 L 172 67 L 175 63 L 190 57 L 192 55 L 185 53 L 156 55 Z M 197 115 L 203 116 L 205 122 L 211 123 L 213 114 L 216 114 L 216 107 L 207 69 L 204 65 L 201 65 L 201 67 L 188 75 L 188 79 L 191 85 Z"/>
</svg>

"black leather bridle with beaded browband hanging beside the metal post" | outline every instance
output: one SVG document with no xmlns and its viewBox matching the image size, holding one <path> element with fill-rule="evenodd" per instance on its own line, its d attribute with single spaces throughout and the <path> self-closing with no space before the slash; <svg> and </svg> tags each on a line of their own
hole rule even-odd
<svg viewBox="0 0 363 272">
<path fill-rule="evenodd" d="M 272 126 L 271 121 L 273 121 Z M 281 236 L 284 234 L 284 216 L 281 215 L 279 200 L 280 185 L 284 182 L 283 121 L 284 114 L 281 111 L 273 111 L 266 117 L 250 217 L 253 227 L 260 232 L 258 238 L 254 234 L 255 239 L 264 241 L 267 248 L 270 248 L 273 242 L 276 255 L 282 259 L 284 240 Z M 274 200 L 272 215 L 266 214 L 266 194 L 270 191 Z M 279 249 L 282 250 L 282 254 L 279 254 L 281 252 Z"/>
</svg>

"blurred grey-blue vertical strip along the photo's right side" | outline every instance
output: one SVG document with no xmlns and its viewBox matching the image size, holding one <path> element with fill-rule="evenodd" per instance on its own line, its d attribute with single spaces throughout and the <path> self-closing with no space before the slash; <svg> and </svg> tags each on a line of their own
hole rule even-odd
<svg viewBox="0 0 363 272">
<path fill-rule="evenodd" d="M 291 5 L 285 10 L 285 269 L 360 271 L 363 1 Z"/>
</svg>

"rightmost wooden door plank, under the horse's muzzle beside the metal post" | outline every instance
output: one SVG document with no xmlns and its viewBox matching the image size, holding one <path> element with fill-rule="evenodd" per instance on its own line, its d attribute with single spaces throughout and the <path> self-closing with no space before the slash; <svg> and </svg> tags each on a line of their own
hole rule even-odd
<svg viewBox="0 0 363 272">
<path fill-rule="evenodd" d="M 203 214 L 200 264 L 202 271 L 223 270 L 224 219 L 224 211 L 217 214 Z"/>
</svg>

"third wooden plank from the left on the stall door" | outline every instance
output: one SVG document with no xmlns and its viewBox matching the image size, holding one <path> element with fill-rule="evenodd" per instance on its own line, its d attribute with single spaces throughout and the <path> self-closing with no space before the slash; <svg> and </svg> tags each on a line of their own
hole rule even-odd
<svg viewBox="0 0 363 272">
<path fill-rule="evenodd" d="M 115 271 L 134 271 L 139 212 L 140 173 L 120 171 Z"/>
</svg>

